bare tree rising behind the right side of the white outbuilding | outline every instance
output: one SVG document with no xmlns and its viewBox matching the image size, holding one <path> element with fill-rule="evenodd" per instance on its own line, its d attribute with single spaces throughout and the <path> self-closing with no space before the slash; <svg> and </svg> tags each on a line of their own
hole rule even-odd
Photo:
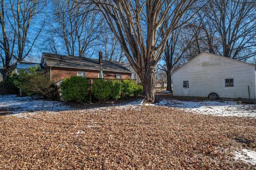
<svg viewBox="0 0 256 170">
<path fill-rule="evenodd" d="M 220 55 L 246 60 L 256 54 L 256 2 L 253 0 L 212 0 L 205 16 L 218 32 Z M 204 23 L 209 30 L 209 23 Z"/>
</svg>

